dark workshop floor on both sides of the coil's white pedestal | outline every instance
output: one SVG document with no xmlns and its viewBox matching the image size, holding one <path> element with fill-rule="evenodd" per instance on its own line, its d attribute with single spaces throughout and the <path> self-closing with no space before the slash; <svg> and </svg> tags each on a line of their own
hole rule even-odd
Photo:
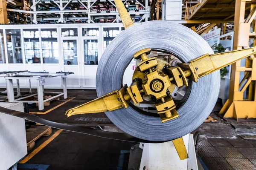
<svg viewBox="0 0 256 170">
<path fill-rule="evenodd" d="M 97 97 L 95 90 L 68 90 L 68 96 L 76 98 L 58 109 L 38 116 L 82 126 L 114 126 L 105 113 L 74 115 L 70 118 L 65 115 L 68 109 L 95 99 Z M 64 100 L 53 101 L 50 107 L 62 101 Z M 45 107 L 43 112 L 50 107 Z M 216 114 L 219 108 L 221 107 L 217 104 L 215 112 L 211 113 L 212 118 L 217 122 L 203 123 L 195 130 L 199 131 L 201 136 L 198 156 L 201 157 L 203 167 L 209 170 L 256 170 L 256 140 L 242 138 L 244 135 L 256 134 L 255 120 L 241 120 L 239 123 L 234 119 L 224 120 Z M 35 142 L 35 148 L 48 138 L 50 136 L 39 138 Z M 130 147 L 134 144 L 63 131 L 26 164 L 49 165 L 47 170 L 126 170 Z"/>
</svg>

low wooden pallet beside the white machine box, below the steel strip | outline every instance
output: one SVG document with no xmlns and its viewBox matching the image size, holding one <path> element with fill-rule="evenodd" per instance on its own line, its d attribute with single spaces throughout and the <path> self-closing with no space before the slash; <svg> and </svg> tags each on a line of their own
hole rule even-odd
<svg viewBox="0 0 256 170">
<path fill-rule="evenodd" d="M 26 130 L 27 150 L 35 147 L 35 141 L 41 136 L 49 136 L 52 134 L 52 128 L 47 126 L 31 126 Z"/>
</svg>

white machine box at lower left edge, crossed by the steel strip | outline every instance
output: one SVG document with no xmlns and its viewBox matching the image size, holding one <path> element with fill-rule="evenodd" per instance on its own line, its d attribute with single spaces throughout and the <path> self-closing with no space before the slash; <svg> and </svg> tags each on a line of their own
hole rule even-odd
<svg viewBox="0 0 256 170">
<path fill-rule="evenodd" d="M 23 103 L 1 102 L 0 107 L 24 111 Z M 0 136 L 0 170 L 7 170 L 27 154 L 25 120 L 1 113 Z"/>
</svg>

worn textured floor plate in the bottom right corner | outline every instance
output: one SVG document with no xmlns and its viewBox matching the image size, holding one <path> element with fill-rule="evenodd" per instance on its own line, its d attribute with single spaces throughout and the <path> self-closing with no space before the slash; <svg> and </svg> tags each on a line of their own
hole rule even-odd
<svg viewBox="0 0 256 170">
<path fill-rule="evenodd" d="M 246 158 L 225 158 L 234 170 L 256 170 L 256 166 Z"/>
</svg>

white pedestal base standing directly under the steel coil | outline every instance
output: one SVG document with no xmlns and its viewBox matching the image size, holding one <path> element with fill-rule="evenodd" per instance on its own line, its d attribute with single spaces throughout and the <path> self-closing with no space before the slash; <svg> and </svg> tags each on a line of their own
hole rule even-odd
<svg viewBox="0 0 256 170">
<path fill-rule="evenodd" d="M 185 160 L 180 160 L 172 141 L 140 143 L 143 149 L 140 170 L 198 170 L 193 135 L 189 133 L 183 136 L 183 141 L 189 155 Z"/>
</svg>

